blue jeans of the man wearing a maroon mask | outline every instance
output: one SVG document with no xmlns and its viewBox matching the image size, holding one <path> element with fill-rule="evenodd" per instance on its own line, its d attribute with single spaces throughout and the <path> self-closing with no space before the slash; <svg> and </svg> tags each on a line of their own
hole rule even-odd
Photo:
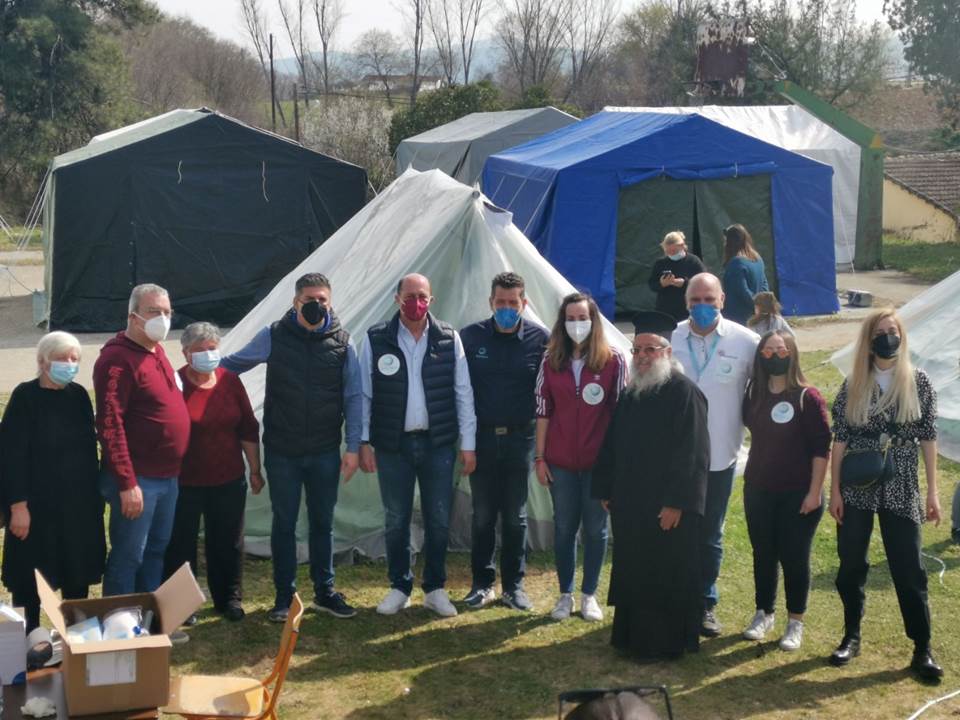
<svg viewBox="0 0 960 720">
<path fill-rule="evenodd" d="M 438 590 L 447 582 L 455 453 L 452 445 L 433 447 L 426 433 L 404 434 L 400 452 L 376 451 L 386 526 L 387 576 L 390 587 L 407 595 L 413 591 L 410 520 L 418 482 L 424 529 L 423 591 Z"/>
</svg>

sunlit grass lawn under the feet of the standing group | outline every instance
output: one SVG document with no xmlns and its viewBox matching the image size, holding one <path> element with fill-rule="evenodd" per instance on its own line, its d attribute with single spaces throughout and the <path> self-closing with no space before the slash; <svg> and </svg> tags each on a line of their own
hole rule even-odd
<svg viewBox="0 0 960 720">
<path fill-rule="evenodd" d="M 826 352 L 810 353 L 808 377 L 832 398 L 840 384 Z M 960 465 L 943 461 L 940 498 L 949 514 Z M 753 613 L 751 551 L 743 518 L 741 483 L 730 501 L 720 578 L 719 618 L 724 634 L 703 643 L 699 654 L 672 664 L 640 666 L 618 658 L 609 646 L 612 611 L 604 623 L 579 618 L 550 621 L 556 579 L 549 553 L 535 553 L 527 589 L 536 603 L 532 614 L 500 607 L 443 620 L 421 607 L 380 617 L 374 607 L 386 592 L 382 562 L 338 568 L 337 585 L 360 608 L 352 620 L 308 612 L 281 701 L 281 718 L 552 718 L 556 696 L 565 689 L 664 684 L 678 718 L 904 718 L 927 700 L 960 686 L 960 547 L 949 542 L 949 521 L 924 528 L 924 550 L 946 565 L 928 561 L 934 648 L 946 669 L 943 685 L 929 687 L 906 670 L 911 644 L 884 561 L 879 533 L 871 554 L 863 654 L 836 669 L 825 663 L 842 633 L 840 601 L 833 588 L 837 568 L 834 525 L 825 519 L 813 549 L 813 588 L 803 648 L 777 649 L 777 635 L 751 643 L 739 632 Z M 630 552 L 617 547 L 613 552 Z M 247 619 L 230 624 L 210 609 L 190 631 L 191 642 L 173 651 L 174 672 L 266 675 L 279 627 L 266 621 L 273 600 L 269 561 L 248 559 L 245 566 Z M 451 595 L 469 588 L 469 558 L 451 554 Z M 605 593 L 609 559 L 601 581 Z M 306 566 L 299 570 L 304 601 L 312 594 Z M 777 633 L 786 622 L 780 609 Z M 960 714 L 960 699 L 937 706 L 923 717 Z"/>
</svg>

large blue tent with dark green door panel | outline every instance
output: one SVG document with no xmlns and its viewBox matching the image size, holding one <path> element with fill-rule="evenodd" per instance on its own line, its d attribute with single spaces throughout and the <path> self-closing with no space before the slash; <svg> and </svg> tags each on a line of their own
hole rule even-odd
<svg viewBox="0 0 960 720">
<path fill-rule="evenodd" d="M 832 174 L 700 115 L 601 112 L 491 156 L 483 190 L 608 316 L 652 306 L 669 230 L 722 274 L 733 222 L 753 235 L 784 312 L 811 315 L 839 309 Z"/>
</svg>

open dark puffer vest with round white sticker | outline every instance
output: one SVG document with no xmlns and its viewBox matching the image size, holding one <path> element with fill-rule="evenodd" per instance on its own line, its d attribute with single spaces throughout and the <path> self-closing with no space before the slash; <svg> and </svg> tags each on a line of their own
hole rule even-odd
<svg viewBox="0 0 960 720">
<path fill-rule="evenodd" d="M 423 358 L 421 377 L 430 422 L 430 441 L 433 447 L 442 447 L 452 445 L 460 435 L 454 389 L 454 331 L 450 325 L 437 320 L 433 315 L 427 317 L 430 321 L 427 331 L 428 347 Z M 387 452 L 400 450 L 400 438 L 407 414 L 407 361 L 397 342 L 399 329 L 400 313 L 397 313 L 390 322 L 367 330 L 373 375 L 370 444 Z M 392 358 L 385 360 L 385 367 L 399 363 L 399 369 L 392 374 L 381 370 L 380 359 L 386 355 Z"/>
</svg>

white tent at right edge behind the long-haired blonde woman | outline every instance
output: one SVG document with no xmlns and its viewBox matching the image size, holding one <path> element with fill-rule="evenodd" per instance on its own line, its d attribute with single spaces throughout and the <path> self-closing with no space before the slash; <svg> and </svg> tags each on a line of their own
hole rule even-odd
<svg viewBox="0 0 960 720">
<path fill-rule="evenodd" d="M 942 280 L 897 310 L 907 328 L 910 357 L 930 376 L 937 391 L 937 446 L 960 462 L 960 272 Z M 853 344 L 830 360 L 850 372 Z"/>
</svg>

